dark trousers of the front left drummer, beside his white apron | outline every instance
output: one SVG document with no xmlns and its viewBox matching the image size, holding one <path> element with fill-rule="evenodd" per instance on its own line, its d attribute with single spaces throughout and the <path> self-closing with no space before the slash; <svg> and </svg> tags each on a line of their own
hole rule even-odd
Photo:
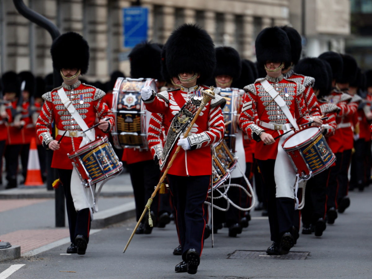
<svg viewBox="0 0 372 279">
<path fill-rule="evenodd" d="M 84 208 L 76 211 L 74 202 L 71 196 L 71 174 L 72 170 L 57 169 L 58 176 L 62 182 L 63 191 L 66 198 L 66 209 L 68 218 L 68 228 L 70 229 L 70 240 L 74 243 L 75 237 L 78 234 L 84 235 L 89 242 L 90 232 L 90 211 L 89 208 Z M 79 187 L 83 187 L 79 185 Z"/>
</svg>

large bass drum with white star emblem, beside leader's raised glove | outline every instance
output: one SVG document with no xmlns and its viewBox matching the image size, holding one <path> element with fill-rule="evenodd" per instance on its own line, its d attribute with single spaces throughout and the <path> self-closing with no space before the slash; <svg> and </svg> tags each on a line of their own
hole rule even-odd
<svg viewBox="0 0 372 279">
<path fill-rule="evenodd" d="M 148 148 L 147 127 L 151 113 L 141 99 L 141 89 L 145 86 L 157 92 L 152 78 L 123 78 L 116 80 L 112 92 L 111 111 L 115 115 L 112 128 L 113 143 L 116 148 Z"/>
</svg>

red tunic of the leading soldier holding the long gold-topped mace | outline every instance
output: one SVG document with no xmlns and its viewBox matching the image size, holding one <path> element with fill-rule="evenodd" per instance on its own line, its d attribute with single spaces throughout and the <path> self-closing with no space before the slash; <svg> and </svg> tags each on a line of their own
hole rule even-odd
<svg viewBox="0 0 372 279">
<path fill-rule="evenodd" d="M 204 86 L 195 86 L 189 89 L 163 91 L 154 98 L 145 101 L 146 109 L 154 113 L 164 115 L 164 130 L 168 132 L 171 121 L 180 108 L 185 105 L 187 93 L 208 89 Z M 212 173 L 212 154 L 210 145 L 222 140 L 224 137 L 225 124 L 222 115 L 221 103 L 225 99 L 216 95 L 216 99 L 210 101 L 200 113 L 195 125 L 191 129 L 189 137 L 198 134 L 203 135 L 200 142 L 192 142 L 189 138 L 192 150 L 183 150 L 177 154 L 168 173 L 178 176 L 199 176 L 210 175 Z M 195 139 L 195 137 L 193 137 Z M 178 139 L 176 140 L 178 141 Z M 176 151 L 177 144 L 173 146 L 168 157 L 168 161 Z M 193 150 L 196 148 L 195 150 Z M 166 162 L 165 165 L 167 165 Z"/>
</svg>

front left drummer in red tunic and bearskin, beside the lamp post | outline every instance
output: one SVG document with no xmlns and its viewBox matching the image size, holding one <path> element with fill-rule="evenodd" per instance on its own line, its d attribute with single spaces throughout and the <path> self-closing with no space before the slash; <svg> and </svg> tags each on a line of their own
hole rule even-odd
<svg viewBox="0 0 372 279">
<path fill-rule="evenodd" d="M 71 239 L 67 253 L 83 255 L 89 242 L 93 201 L 91 196 L 86 196 L 85 191 L 90 190 L 81 185 L 67 154 L 95 139 L 94 130 L 83 133 L 83 127 L 94 125 L 96 113 L 101 118 L 98 127 L 105 133 L 113 126 L 114 116 L 103 101 L 105 92 L 79 81 L 80 74 L 87 73 L 89 64 L 89 46 L 81 35 L 62 34 L 53 42 L 51 55 L 53 67 L 61 74 L 63 83 L 42 96 L 45 102 L 36 132 L 43 146 L 54 151 L 51 167 L 57 169 L 65 193 Z M 104 120 L 107 118 L 108 121 Z M 53 121 L 58 129 L 55 140 L 50 131 Z"/>
</svg>

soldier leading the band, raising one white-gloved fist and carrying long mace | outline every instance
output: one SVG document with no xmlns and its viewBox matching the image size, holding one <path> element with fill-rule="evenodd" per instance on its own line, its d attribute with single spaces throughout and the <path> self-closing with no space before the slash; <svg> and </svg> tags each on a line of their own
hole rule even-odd
<svg viewBox="0 0 372 279">
<path fill-rule="evenodd" d="M 196 25 L 184 24 L 170 35 L 166 42 L 166 66 L 169 76 L 178 76 L 180 89 L 155 95 L 150 88 L 141 91 L 146 108 L 164 115 L 166 141 L 160 159 L 160 168 L 177 154 L 168 171 L 171 195 L 176 208 L 176 221 L 182 246 L 183 261 L 176 272 L 195 274 L 200 263 L 204 243 L 204 202 L 212 174 L 211 146 L 222 139 L 224 121 L 221 106 L 225 99 L 215 96 L 196 119 L 191 134 L 183 138 L 190 115 L 195 113 L 202 100 L 201 86 L 214 71 L 215 52 L 211 37 Z"/>
</svg>

